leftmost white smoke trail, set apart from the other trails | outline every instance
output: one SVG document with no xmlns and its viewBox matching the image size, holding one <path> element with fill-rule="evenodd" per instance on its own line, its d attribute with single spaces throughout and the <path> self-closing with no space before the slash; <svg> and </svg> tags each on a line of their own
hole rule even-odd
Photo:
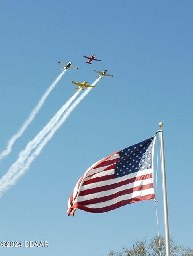
<svg viewBox="0 0 193 256">
<path fill-rule="evenodd" d="M 60 73 L 60 75 L 53 81 L 53 83 L 51 83 L 51 85 L 49 86 L 49 88 L 47 89 L 47 91 L 43 94 L 43 96 L 41 97 L 41 99 L 39 100 L 38 104 L 35 106 L 35 108 L 32 110 L 31 114 L 29 115 L 29 117 L 26 119 L 26 121 L 23 123 L 23 125 L 21 126 L 21 128 L 11 137 L 11 139 L 8 141 L 7 144 L 7 148 L 5 150 L 3 150 L 0 153 L 0 162 L 2 161 L 2 159 L 7 156 L 8 154 L 10 154 L 10 152 L 12 151 L 12 146 L 15 143 L 15 141 L 21 137 L 21 135 L 23 134 L 23 132 L 25 131 L 25 129 L 29 126 L 29 124 L 33 121 L 33 119 L 35 118 L 36 114 L 39 112 L 40 108 L 42 107 L 42 105 L 44 104 L 46 98 L 49 96 L 49 94 L 51 93 L 51 91 L 54 89 L 54 87 L 57 85 L 57 83 L 60 81 L 60 79 L 62 78 L 62 76 L 64 75 L 64 73 L 66 72 L 66 69 L 64 71 L 62 71 L 62 73 Z"/>
</svg>

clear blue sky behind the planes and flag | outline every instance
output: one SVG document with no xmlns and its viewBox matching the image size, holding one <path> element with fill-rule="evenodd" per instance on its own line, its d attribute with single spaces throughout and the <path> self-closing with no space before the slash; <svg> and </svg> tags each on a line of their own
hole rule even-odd
<svg viewBox="0 0 193 256">
<path fill-rule="evenodd" d="M 170 234 L 192 242 L 192 1 L 0 1 L 0 152 L 49 85 L 68 70 L 9 156 L 19 152 L 74 94 L 91 84 L 29 170 L 0 198 L 1 241 L 48 241 L 49 248 L 1 248 L 5 256 L 100 256 L 157 234 L 154 200 L 67 216 L 68 198 L 94 162 L 153 136 L 164 122 Z M 83 55 L 101 62 L 85 63 Z M 158 170 L 158 218 L 164 235 Z"/>
</svg>

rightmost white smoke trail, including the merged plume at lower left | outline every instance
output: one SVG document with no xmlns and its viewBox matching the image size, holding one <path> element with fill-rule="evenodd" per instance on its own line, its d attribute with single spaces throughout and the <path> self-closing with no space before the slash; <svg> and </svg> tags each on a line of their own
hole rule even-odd
<svg viewBox="0 0 193 256">
<path fill-rule="evenodd" d="M 96 85 L 96 83 L 100 80 L 100 78 L 96 79 L 92 85 Z M 35 158 L 41 153 L 44 146 L 49 142 L 49 140 L 53 137 L 57 129 L 66 121 L 70 113 L 78 106 L 81 100 L 90 92 L 92 88 L 88 88 L 82 95 L 78 97 L 78 99 L 66 110 L 61 119 L 56 123 L 56 125 L 51 129 L 50 133 L 43 139 L 43 141 L 37 146 L 36 150 L 29 156 L 28 158 L 24 157 L 23 154 L 20 154 L 19 158 L 16 160 L 14 164 L 10 167 L 8 172 L 0 179 L 0 197 L 7 191 L 12 185 L 15 185 L 16 181 L 25 174 L 25 172 L 29 169 L 31 163 Z M 25 155 L 25 154 L 24 154 Z M 26 162 L 25 162 L 26 161 Z M 25 162 L 25 163 L 24 163 Z"/>
</svg>

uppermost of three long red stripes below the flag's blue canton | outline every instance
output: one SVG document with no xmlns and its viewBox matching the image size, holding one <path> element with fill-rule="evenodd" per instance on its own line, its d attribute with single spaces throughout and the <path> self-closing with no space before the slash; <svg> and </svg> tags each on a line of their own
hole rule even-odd
<svg viewBox="0 0 193 256">
<path fill-rule="evenodd" d="M 146 175 L 142 175 L 139 177 L 134 177 L 131 179 L 127 179 L 125 181 L 120 181 L 114 184 L 110 184 L 110 185 L 105 185 L 105 186 L 101 186 L 101 187 L 94 187 L 91 189 L 85 189 L 83 191 L 80 191 L 78 196 L 85 196 L 85 195 L 89 195 L 89 194 L 94 194 L 97 192 L 102 192 L 102 191 L 106 191 L 106 190 L 110 190 L 110 189 L 115 189 L 117 187 L 121 187 L 123 185 L 127 185 L 129 183 L 135 182 L 135 181 L 139 181 L 139 180 L 145 180 L 145 179 L 150 179 L 152 178 L 152 174 L 146 174 Z"/>
</svg>

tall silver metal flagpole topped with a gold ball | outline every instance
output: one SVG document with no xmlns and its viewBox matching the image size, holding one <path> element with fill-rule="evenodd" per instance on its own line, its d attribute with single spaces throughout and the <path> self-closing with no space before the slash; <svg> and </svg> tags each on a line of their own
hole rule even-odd
<svg viewBox="0 0 193 256">
<path fill-rule="evenodd" d="M 166 189 L 166 171 L 165 171 L 165 158 L 164 158 L 164 138 L 163 138 L 163 123 L 159 123 L 161 127 L 158 130 L 160 135 L 161 147 L 161 167 L 162 167 L 162 188 L 163 188 L 163 201 L 164 201 L 164 225 L 165 225 L 165 243 L 166 243 L 166 256 L 170 256 L 170 235 L 168 224 L 168 202 L 167 202 L 167 189 Z"/>
</svg>

